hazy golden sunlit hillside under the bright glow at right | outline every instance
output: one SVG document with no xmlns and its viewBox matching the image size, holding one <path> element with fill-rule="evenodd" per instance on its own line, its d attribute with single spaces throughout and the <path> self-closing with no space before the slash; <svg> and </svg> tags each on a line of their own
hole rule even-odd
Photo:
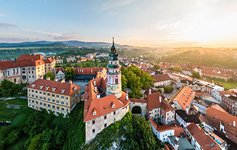
<svg viewBox="0 0 237 150">
<path fill-rule="evenodd" d="M 160 61 L 237 69 L 237 49 L 176 48 L 165 53 Z"/>
</svg>

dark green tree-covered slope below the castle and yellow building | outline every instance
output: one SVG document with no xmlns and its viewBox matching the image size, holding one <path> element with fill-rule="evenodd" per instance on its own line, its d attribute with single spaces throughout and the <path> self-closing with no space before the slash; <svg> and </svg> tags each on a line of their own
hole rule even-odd
<svg viewBox="0 0 237 150">
<path fill-rule="evenodd" d="M 26 100 L 21 100 L 21 103 L 18 101 L 8 101 L 11 104 L 20 104 L 22 107 L 12 115 L 11 125 L 0 127 L 0 149 L 94 150 L 140 147 L 149 150 L 162 147 L 154 137 L 148 122 L 143 117 L 132 116 L 130 112 L 121 121 L 104 129 L 92 142 L 85 145 L 82 102 L 75 107 L 69 118 L 62 118 L 45 111 L 30 109 L 27 107 Z M 0 114 L 9 112 L 5 105 L 7 104 L 4 102 Z"/>
</svg>

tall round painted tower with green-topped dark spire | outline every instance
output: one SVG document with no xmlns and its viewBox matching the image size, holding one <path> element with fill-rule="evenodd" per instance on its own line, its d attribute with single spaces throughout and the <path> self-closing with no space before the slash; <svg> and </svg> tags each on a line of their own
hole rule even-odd
<svg viewBox="0 0 237 150">
<path fill-rule="evenodd" d="M 122 95 L 121 66 L 114 46 L 114 38 L 109 53 L 109 63 L 107 64 L 106 94 L 114 94 L 117 98 Z"/>
</svg>

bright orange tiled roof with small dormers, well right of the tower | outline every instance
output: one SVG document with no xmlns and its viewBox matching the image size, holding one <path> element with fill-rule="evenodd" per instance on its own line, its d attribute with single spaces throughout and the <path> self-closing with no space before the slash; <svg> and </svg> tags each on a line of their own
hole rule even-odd
<svg viewBox="0 0 237 150">
<path fill-rule="evenodd" d="M 177 101 L 182 109 L 186 111 L 186 108 L 192 103 L 194 96 L 195 92 L 190 87 L 186 86 L 175 95 L 173 101 Z"/>
</svg>

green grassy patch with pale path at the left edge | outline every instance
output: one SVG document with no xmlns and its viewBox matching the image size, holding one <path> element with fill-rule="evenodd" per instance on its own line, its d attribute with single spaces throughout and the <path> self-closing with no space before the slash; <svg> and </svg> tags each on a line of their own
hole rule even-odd
<svg viewBox="0 0 237 150">
<path fill-rule="evenodd" d="M 26 107 L 27 100 L 24 99 L 0 101 L 0 121 L 13 121 L 16 115 Z"/>
</svg>

